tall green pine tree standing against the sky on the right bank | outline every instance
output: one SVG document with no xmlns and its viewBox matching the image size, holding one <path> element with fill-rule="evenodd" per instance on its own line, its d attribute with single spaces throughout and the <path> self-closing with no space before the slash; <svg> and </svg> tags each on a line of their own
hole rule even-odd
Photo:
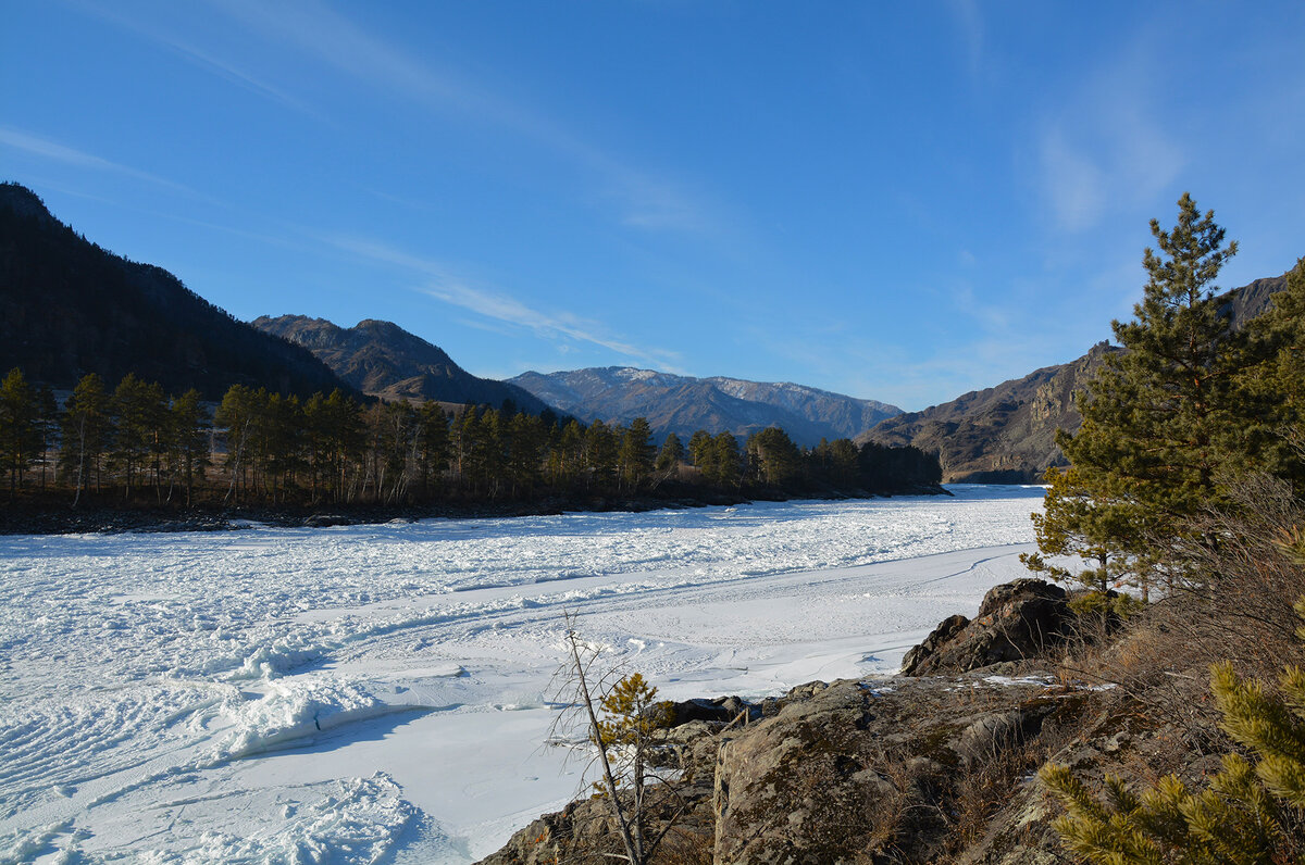
<svg viewBox="0 0 1305 865">
<path fill-rule="evenodd" d="M 1148 281 L 1135 320 L 1113 322 L 1125 351 L 1107 357 L 1079 395 L 1079 431 L 1057 436 L 1075 475 L 1073 491 L 1049 492 L 1047 513 L 1057 524 L 1043 548 L 1104 556 L 1143 591 L 1155 540 L 1219 501 L 1220 479 L 1254 463 L 1266 432 L 1240 386 L 1253 364 L 1249 342 L 1215 295 L 1214 279 L 1237 244 L 1225 248 L 1214 211 L 1202 215 L 1186 193 L 1177 224 L 1164 231 L 1152 219 L 1151 234 L 1159 253 L 1143 254 Z"/>
</svg>

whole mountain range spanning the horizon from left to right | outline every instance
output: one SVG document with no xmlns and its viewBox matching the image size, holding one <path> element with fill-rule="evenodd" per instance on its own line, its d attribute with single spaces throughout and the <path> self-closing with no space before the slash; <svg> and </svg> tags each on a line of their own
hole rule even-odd
<svg viewBox="0 0 1305 865">
<path fill-rule="evenodd" d="M 1235 326 L 1263 312 L 1285 277 L 1225 295 Z M 30 189 L 0 184 L 0 372 L 72 387 L 98 373 L 112 387 L 128 372 L 174 394 L 218 399 L 235 384 L 307 395 L 341 387 L 382 399 L 445 403 L 512 401 L 590 421 L 646 417 L 658 437 L 697 429 L 746 436 L 783 427 L 800 445 L 821 438 L 915 445 L 937 451 L 944 480 L 1036 481 L 1064 462 L 1057 428 L 1081 423 L 1074 394 L 1112 351 L 903 414 L 795 384 L 694 378 L 629 367 L 479 378 L 442 350 L 386 321 L 339 327 L 305 316 L 238 321 L 171 273 L 129 261 L 59 222 Z"/>
</svg>

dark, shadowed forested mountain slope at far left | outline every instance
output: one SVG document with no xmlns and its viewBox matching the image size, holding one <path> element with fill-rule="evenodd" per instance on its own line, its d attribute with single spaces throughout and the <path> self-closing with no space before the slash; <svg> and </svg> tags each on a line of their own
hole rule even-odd
<svg viewBox="0 0 1305 865">
<path fill-rule="evenodd" d="M 309 395 L 350 390 L 304 348 L 214 307 L 162 267 L 129 261 L 59 222 L 37 193 L 0 184 L 0 371 L 72 387 L 127 373 L 172 394 L 231 385 Z"/>
</svg>

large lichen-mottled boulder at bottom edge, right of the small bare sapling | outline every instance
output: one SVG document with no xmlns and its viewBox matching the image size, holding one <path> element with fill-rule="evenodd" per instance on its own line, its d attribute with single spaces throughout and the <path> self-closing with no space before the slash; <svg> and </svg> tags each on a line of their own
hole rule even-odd
<svg viewBox="0 0 1305 865">
<path fill-rule="evenodd" d="M 720 737 L 713 861 L 955 861 L 955 815 L 975 810 L 976 789 L 1022 778 L 1022 749 L 1065 707 L 1040 684 L 944 678 L 842 681 L 790 698 Z"/>
</svg>

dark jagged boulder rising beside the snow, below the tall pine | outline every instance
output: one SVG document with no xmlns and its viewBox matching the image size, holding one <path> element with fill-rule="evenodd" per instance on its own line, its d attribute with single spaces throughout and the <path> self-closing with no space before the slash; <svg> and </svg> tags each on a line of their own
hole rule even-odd
<svg viewBox="0 0 1305 865">
<path fill-rule="evenodd" d="M 906 654 L 906 676 L 966 673 L 1004 661 L 1044 659 L 1065 641 L 1071 622 L 1065 590 L 1041 579 L 1017 579 L 984 595 L 972 621 L 951 616 Z"/>
</svg>

